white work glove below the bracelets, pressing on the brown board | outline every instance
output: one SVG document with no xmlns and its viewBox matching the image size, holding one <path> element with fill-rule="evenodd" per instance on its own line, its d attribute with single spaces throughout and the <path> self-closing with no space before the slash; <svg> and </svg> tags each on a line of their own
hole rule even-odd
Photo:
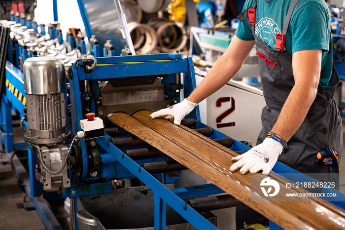
<svg viewBox="0 0 345 230">
<path fill-rule="evenodd" d="M 257 173 L 262 170 L 263 174 L 269 174 L 276 164 L 278 156 L 283 151 L 283 145 L 274 138 L 266 137 L 263 143 L 248 150 L 242 155 L 233 157 L 234 163 L 230 167 L 231 172 L 239 170 L 242 174 Z"/>
</svg>

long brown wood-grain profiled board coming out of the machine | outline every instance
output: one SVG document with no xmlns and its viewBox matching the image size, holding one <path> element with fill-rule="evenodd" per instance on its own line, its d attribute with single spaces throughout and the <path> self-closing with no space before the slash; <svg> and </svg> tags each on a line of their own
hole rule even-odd
<svg viewBox="0 0 345 230">
<path fill-rule="evenodd" d="M 183 125 L 176 126 L 165 119 L 152 120 L 149 116 L 151 113 L 147 110 L 138 111 L 132 116 L 114 113 L 109 115 L 108 119 L 284 229 L 345 229 L 345 212 L 318 197 L 303 197 L 300 199 L 302 201 L 268 201 L 267 197 L 256 194 L 256 200 L 263 202 L 250 201 L 250 174 L 242 175 L 239 171 L 229 171 L 232 165 L 231 158 L 237 153 Z M 287 191 L 285 179 L 273 172 L 270 176 L 278 181 L 280 191 L 303 191 L 291 188 Z"/>
</svg>

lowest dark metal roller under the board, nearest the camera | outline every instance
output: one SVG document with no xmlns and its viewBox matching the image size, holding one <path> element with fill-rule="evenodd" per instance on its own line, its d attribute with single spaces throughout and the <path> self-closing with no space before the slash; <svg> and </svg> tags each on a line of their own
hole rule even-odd
<svg viewBox="0 0 345 230">
<path fill-rule="evenodd" d="M 190 199 L 188 204 L 198 212 L 237 207 L 243 203 L 229 194 Z"/>
</svg>

